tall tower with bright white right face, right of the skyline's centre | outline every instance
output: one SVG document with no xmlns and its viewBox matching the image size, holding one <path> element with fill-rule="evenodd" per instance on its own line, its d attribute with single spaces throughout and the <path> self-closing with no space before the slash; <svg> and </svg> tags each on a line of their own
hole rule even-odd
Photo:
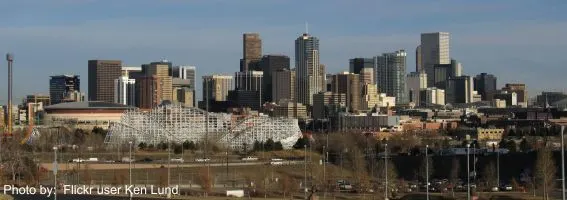
<svg viewBox="0 0 567 200">
<path fill-rule="evenodd" d="M 422 33 L 421 34 L 421 69 L 425 70 L 428 77 L 434 77 L 434 65 L 450 64 L 451 57 L 449 54 L 449 33 Z M 434 79 L 427 81 L 428 87 L 433 87 Z"/>
</svg>

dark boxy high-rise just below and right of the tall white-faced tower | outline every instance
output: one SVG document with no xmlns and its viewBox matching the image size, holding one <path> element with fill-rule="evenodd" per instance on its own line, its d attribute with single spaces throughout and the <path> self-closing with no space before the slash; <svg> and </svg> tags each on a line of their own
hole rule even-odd
<svg viewBox="0 0 567 200">
<path fill-rule="evenodd" d="M 445 103 L 472 103 L 474 95 L 473 78 L 470 76 L 452 77 L 447 80 Z"/>
</svg>

